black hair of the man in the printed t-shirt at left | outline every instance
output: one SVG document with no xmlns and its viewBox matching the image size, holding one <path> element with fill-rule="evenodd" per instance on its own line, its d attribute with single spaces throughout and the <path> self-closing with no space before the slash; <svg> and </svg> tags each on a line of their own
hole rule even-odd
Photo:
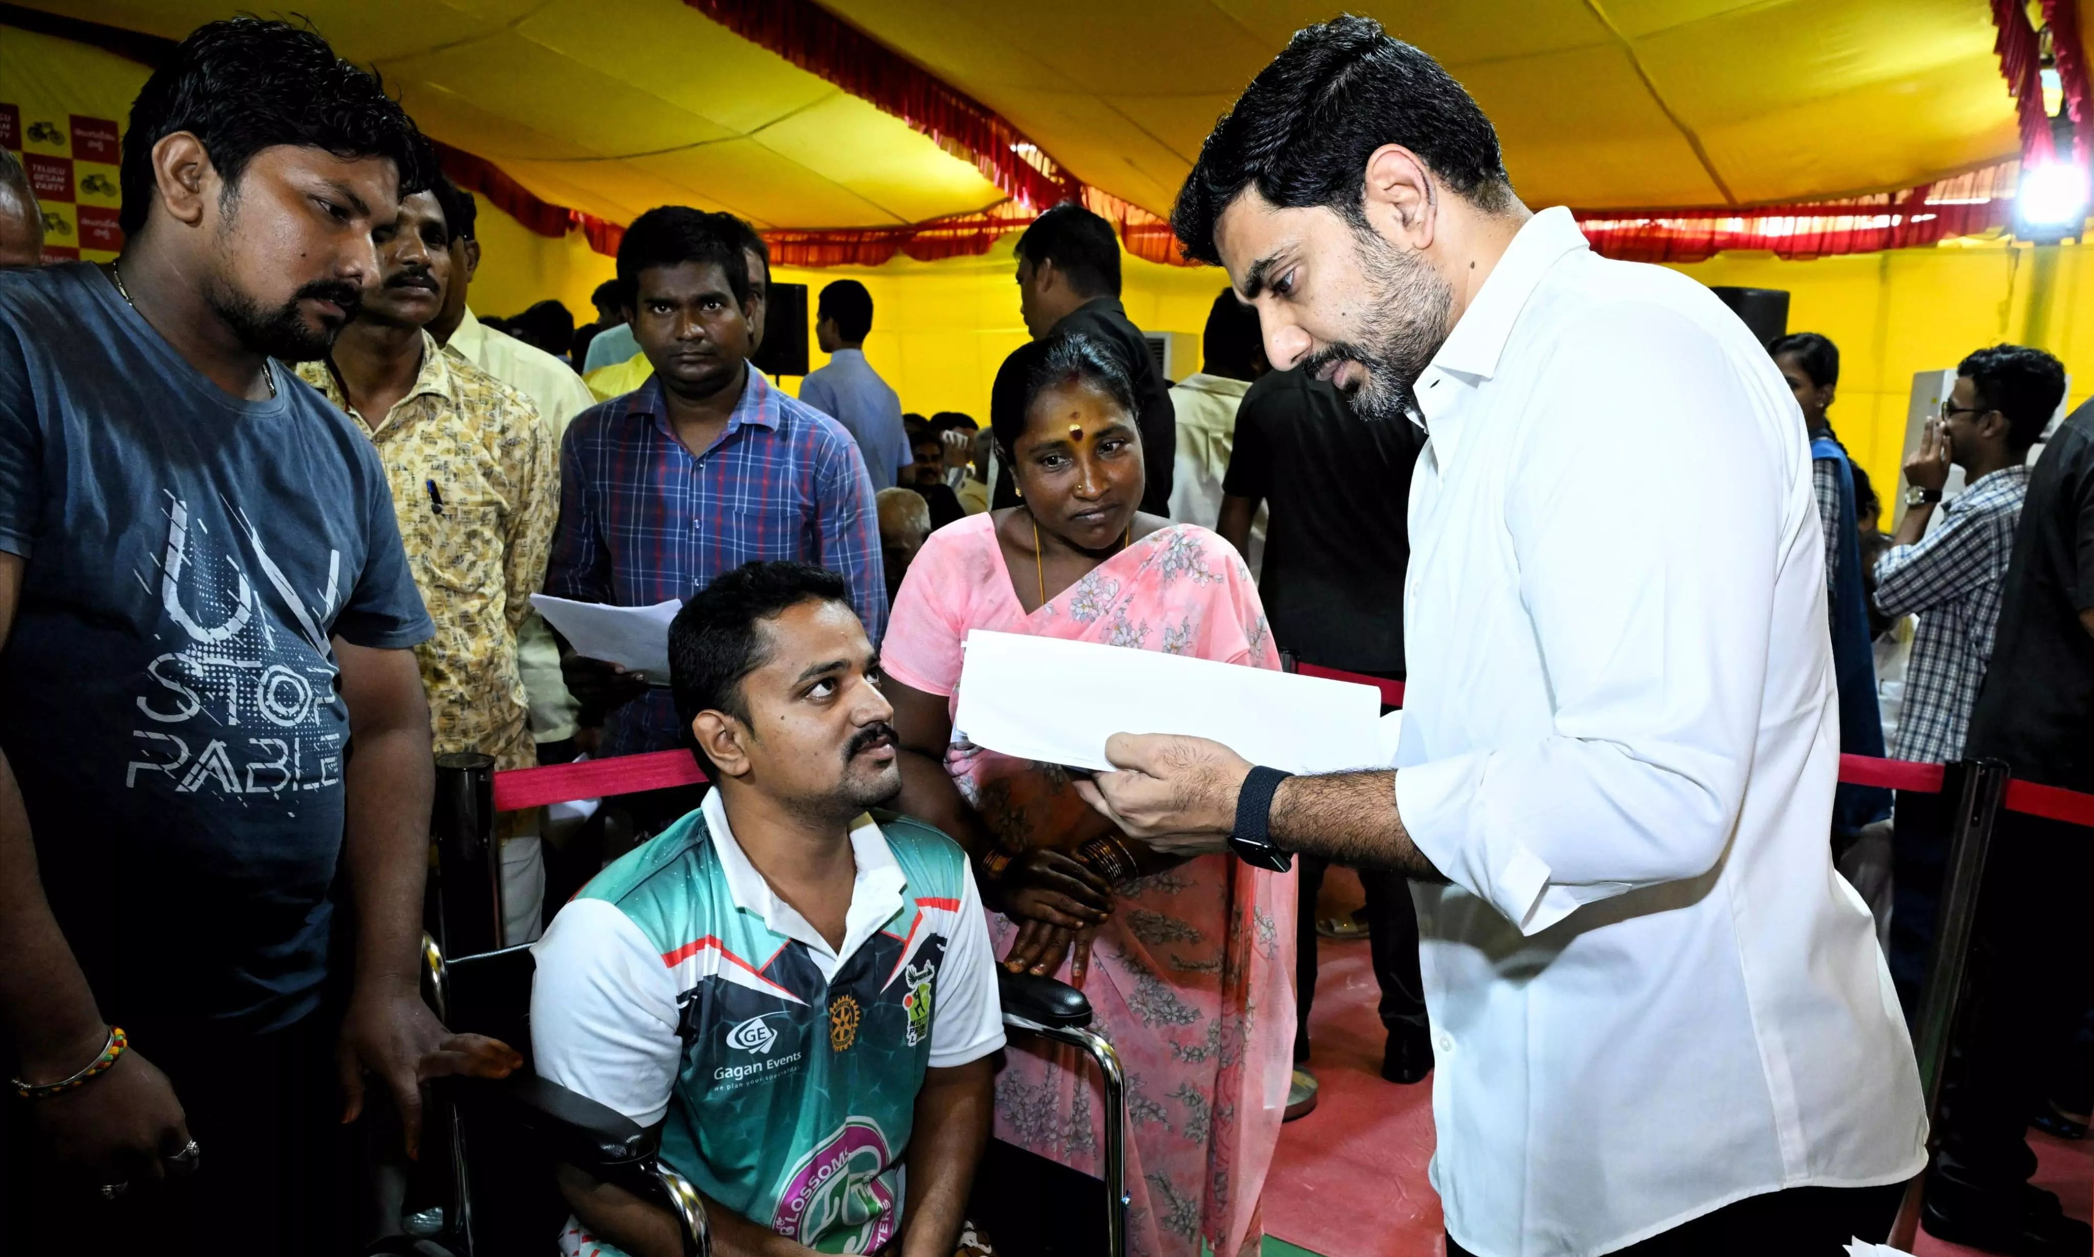
<svg viewBox="0 0 2094 1257">
<path fill-rule="evenodd" d="M 205 23 L 144 82 L 124 132 L 124 235 L 144 228 L 159 195 L 153 145 L 184 130 L 203 140 L 228 199 L 253 155 L 276 145 L 385 157 L 400 172 L 402 197 L 438 174 L 436 149 L 379 75 L 335 57 L 312 27 L 287 21 Z"/>
</svg>

